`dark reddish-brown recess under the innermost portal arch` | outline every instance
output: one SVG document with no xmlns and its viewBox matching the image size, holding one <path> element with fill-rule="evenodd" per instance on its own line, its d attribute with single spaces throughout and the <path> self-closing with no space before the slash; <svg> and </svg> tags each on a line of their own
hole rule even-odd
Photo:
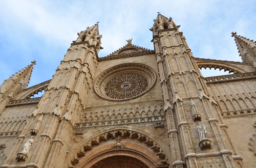
<svg viewBox="0 0 256 168">
<path fill-rule="evenodd" d="M 102 159 L 95 163 L 91 168 L 121 168 L 121 167 L 129 167 L 129 168 L 149 168 L 145 163 L 130 156 L 112 156 Z"/>
</svg>

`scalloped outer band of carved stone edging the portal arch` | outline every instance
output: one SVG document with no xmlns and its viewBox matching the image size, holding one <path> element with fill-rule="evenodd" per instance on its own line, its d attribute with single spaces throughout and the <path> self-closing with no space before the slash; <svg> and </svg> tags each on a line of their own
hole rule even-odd
<svg viewBox="0 0 256 168">
<path fill-rule="evenodd" d="M 153 150 L 156 155 L 161 159 L 161 163 L 168 163 L 168 159 L 165 157 L 165 152 L 162 150 L 160 145 L 158 145 L 158 143 L 156 143 L 152 138 L 136 131 L 114 130 L 100 134 L 84 144 L 80 149 L 76 151 L 76 155 L 73 156 L 73 158 L 70 160 L 68 167 L 73 167 L 73 165 L 79 163 L 79 158 L 83 157 L 87 151 L 92 150 L 94 145 L 99 145 L 101 142 L 108 141 L 110 138 L 115 138 L 117 136 L 121 136 L 122 138 L 136 138 L 140 143 L 144 143 L 146 146 L 150 146 L 151 150 Z"/>
</svg>

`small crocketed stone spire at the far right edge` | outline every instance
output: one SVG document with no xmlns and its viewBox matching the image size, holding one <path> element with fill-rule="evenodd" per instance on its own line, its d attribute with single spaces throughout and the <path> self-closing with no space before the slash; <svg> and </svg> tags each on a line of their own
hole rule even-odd
<svg viewBox="0 0 256 168">
<path fill-rule="evenodd" d="M 232 32 L 231 34 L 232 37 L 234 37 L 234 41 L 236 41 L 242 61 L 244 63 L 249 63 L 256 68 L 256 42 L 237 35 L 237 32 Z"/>
</svg>

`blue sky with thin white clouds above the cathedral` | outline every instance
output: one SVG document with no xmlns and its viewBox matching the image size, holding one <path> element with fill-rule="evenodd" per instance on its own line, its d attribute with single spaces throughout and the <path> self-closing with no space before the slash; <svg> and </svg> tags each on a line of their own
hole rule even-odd
<svg viewBox="0 0 256 168">
<path fill-rule="evenodd" d="M 154 49 L 149 29 L 157 12 L 181 25 L 194 57 L 241 61 L 230 33 L 256 40 L 253 0 L 0 1 L 0 83 L 33 60 L 29 86 L 51 79 L 77 32 L 97 21 L 104 47 L 99 57 L 132 37 L 133 44 Z"/>
</svg>

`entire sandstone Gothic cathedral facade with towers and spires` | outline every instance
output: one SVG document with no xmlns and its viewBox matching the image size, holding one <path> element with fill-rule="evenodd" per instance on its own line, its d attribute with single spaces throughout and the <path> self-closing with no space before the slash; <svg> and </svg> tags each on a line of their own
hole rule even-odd
<svg viewBox="0 0 256 168">
<path fill-rule="evenodd" d="M 150 31 L 154 50 L 129 39 L 99 58 L 95 24 L 52 79 L 27 88 L 35 61 L 6 79 L 0 167 L 256 167 L 256 42 L 231 33 L 242 62 L 210 60 L 194 57 L 171 17 Z"/>
</svg>

